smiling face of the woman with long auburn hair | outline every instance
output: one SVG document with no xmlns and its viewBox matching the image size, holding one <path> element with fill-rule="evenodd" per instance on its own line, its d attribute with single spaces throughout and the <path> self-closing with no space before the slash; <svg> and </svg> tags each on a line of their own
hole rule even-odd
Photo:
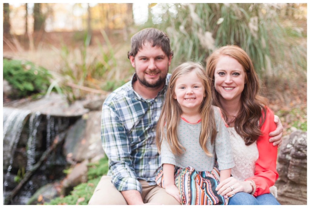
<svg viewBox="0 0 310 208">
<path fill-rule="evenodd" d="M 230 56 L 221 56 L 215 66 L 215 90 L 224 101 L 240 101 L 245 84 L 242 65 Z"/>
</svg>

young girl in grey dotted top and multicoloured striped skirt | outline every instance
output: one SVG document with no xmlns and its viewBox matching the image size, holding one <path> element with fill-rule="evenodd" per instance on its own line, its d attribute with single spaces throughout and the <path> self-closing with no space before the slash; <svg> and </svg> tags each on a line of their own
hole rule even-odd
<svg viewBox="0 0 310 208">
<path fill-rule="evenodd" d="M 162 169 L 155 180 L 182 205 L 228 203 L 215 188 L 230 176 L 234 162 L 221 112 L 211 103 L 201 64 L 186 62 L 173 71 L 157 124 Z"/>
</svg>

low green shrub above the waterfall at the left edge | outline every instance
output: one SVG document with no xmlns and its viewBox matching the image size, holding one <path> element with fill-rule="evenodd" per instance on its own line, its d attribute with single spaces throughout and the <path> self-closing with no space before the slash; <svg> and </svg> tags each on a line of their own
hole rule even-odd
<svg viewBox="0 0 310 208">
<path fill-rule="evenodd" d="M 3 78 L 17 90 L 17 97 L 45 93 L 51 77 L 47 69 L 29 61 L 3 59 Z"/>
</svg>

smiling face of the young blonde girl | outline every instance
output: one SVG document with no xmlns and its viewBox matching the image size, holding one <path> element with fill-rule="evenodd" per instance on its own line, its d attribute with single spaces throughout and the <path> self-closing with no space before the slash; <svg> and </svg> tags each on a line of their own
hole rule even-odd
<svg viewBox="0 0 310 208">
<path fill-rule="evenodd" d="M 176 80 L 173 98 L 178 101 L 183 112 L 199 111 L 205 96 L 202 80 L 194 70 Z"/>
</svg>

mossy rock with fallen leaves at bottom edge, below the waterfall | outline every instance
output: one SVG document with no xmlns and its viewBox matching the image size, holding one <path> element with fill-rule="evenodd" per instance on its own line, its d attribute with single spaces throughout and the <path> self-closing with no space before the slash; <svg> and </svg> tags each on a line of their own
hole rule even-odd
<svg viewBox="0 0 310 208">
<path fill-rule="evenodd" d="M 27 201 L 27 205 L 37 205 L 43 204 L 44 202 L 49 202 L 51 199 L 60 196 L 61 184 L 59 182 L 54 182 L 46 184 L 39 188 L 32 197 Z"/>
</svg>

